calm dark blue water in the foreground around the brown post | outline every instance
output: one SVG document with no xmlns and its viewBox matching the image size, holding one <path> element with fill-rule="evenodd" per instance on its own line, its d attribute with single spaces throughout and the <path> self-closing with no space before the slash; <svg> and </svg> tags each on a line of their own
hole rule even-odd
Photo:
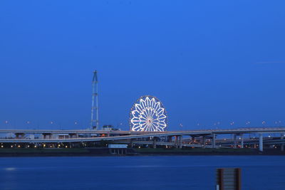
<svg viewBox="0 0 285 190">
<path fill-rule="evenodd" d="M 241 167 L 243 190 L 285 189 L 281 156 L 0 158 L 0 189 L 214 189 L 219 167 Z"/>
</svg>

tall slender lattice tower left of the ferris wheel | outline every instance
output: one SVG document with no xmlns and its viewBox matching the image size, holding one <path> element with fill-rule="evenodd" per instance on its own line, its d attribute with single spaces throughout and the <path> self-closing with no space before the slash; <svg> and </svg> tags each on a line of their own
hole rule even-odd
<svg viewBox="0 0 285 190">
<path fill-rule="evenodd" d="M 91 108 L 91 130 L 99 130 L 99 113 L 98 113 L 98 77 L 97 70 L 93 71 L 92 80 L 92 108 Z"/>
</svg>

